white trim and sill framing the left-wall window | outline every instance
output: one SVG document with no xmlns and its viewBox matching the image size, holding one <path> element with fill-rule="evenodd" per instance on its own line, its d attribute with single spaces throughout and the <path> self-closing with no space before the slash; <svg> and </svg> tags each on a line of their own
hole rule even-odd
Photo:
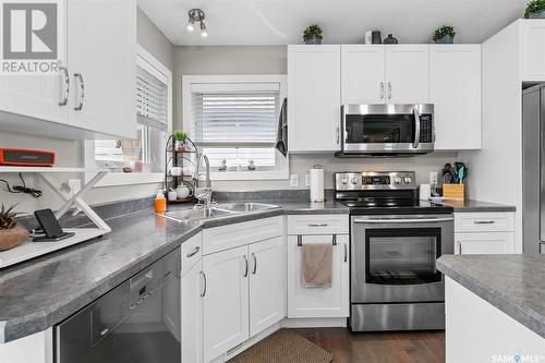
<svg viewBox="0 0 545 363">
<path fill-rule="evenodd" d="M 136 64 L 159 81 L 167 85 L 167 134 L 172 132 L 172 71 L 162 64 L 157 58 L 147 51 L 142 45 L 136 48 Z M 136 80 L 134 80 L 136 86 Z M 136 109 L 134 109 L 136 112 Z M 84 142 L 84 165 L 96 169 L 95 161 L 95 142 Z M 162 167 L 162 166 L 161 166 Z M 85 180 L 88 181 L 90 176 L 85 173 Z M 165 182 L 165 174 L 161 172 L 110 172 L 95 187 L 113 186 L 113 185 L 134 185 L 134 184 L 152 184 Z"/>
</svg>

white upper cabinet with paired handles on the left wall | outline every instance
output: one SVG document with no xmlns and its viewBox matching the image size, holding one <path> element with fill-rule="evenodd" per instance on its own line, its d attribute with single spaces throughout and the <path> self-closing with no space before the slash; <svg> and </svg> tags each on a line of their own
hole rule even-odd
<svg viewBox="0 0 545 363">
<path fill-rule="evenodd" d="M 0 76 L 0 130 L 134 138 L 136 1 L 61 0 L 58 9 L 62 68 L 55 75 Z"/>
</svg>

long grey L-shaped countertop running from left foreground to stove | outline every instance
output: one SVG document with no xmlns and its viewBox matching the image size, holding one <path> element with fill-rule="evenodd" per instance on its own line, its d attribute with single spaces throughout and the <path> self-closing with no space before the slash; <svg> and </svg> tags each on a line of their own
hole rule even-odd
<svg viewBox="0 0 545 363">
<path fill-rule="evenodd" d="M 108 219 L 112 232 L 0 270 L 0 343 L 45 330 L 92 303 L 204 228 L 284 214 L 336 214 L 336 202 L 270 202 L 276 209 L 179 222 L 153 210 Z M 185 207 L 186 208 L 186 207 Z"/>
</svg>

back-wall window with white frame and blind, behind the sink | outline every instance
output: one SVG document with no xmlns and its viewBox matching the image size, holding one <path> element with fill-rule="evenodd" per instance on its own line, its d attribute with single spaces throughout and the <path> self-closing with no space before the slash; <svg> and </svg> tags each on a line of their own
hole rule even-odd
<svg viewBox="0 0 545 363">
<path fill-rule="evenodd" d="M 184 130 L 208 156 L 213 180 L 289 178 L 275 148 L 284 75 L 191 75 L 182 87 Z"/>
</svg>

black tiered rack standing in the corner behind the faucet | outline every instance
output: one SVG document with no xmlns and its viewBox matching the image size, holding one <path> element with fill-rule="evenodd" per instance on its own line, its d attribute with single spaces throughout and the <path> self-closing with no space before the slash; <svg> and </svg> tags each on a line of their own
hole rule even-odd
<svg viewBox="0 0 545 363">
<path fill-rule="evenodd" d="M 195 202 L 195 181 L 193 173 L 195 172 L 195 159 L 197 158 L 197 147 L 195 143 L 189 137 L 185 138 L 182 147 L 177 147 L 173 135 L 167 140 L 165 148 L 165 196 L 169 190 L 175 190 L 181 184 L 185 184 L 191 191 L 192 196 L 183 199 L 169 201 L 167 203 L 194 203 Z M 192 174 L 185 174 L 184 167 L 191 166 L 193 168 Z M 181 176 L 172 176 L 171 170 L 174 167 L 182 168 Z"/>
</svg>

